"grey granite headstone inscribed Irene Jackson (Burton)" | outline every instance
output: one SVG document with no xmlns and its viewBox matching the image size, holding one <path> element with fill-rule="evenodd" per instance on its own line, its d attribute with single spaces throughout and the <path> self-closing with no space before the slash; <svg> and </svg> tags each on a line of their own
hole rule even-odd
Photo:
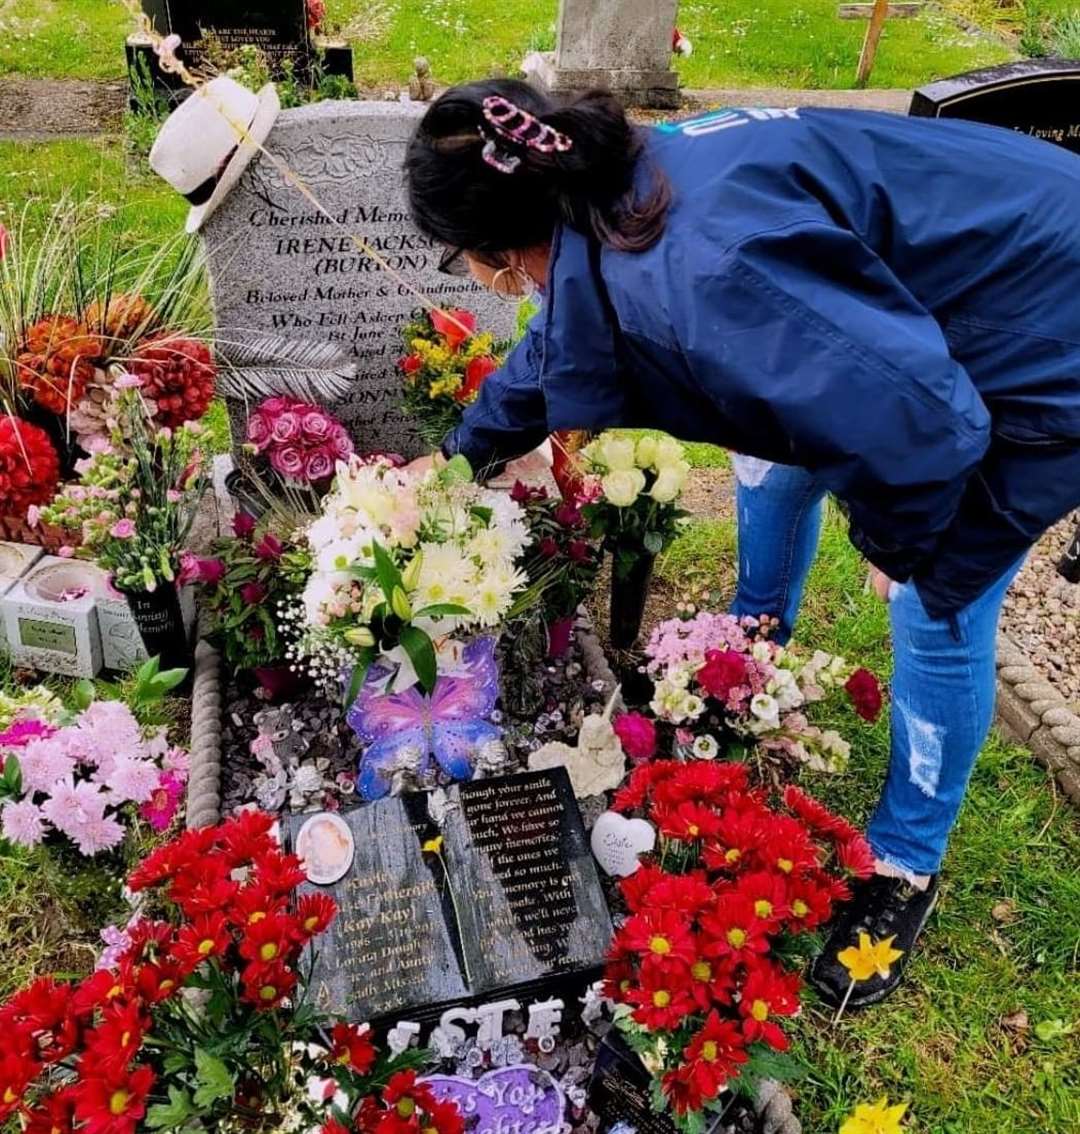
<svg viewBox="0 0 1080 1134">
<path fill-rule="evenodd" d="M 360 449 L 406 457 L 425 450 L 402 412 L 396 369 L 404 353 L 400 329 L 417 302 L 357 251 L 349 234 L 433 302 L 474 312 L 480 330 L 497 340 L 512 336 L 516 315 L 513 304 L 471 279 L 440 273 L 442 247 L 412 222 L 402 164 L 425 110 L 398 102 L 320 102 L 284 111 L 265 147 L 339 223 L 330 223 L 260 155 L 203 230 L 219 340 L 271 333 L 337 347 L 355 366 L 355 379 L 344 400 L 328 408 L 353 429 Z M 294 384 L 293 392 L 301 390 Z M 261 396 L 251 392 L 253 400 Z M 230 412 L 245 413 L 243 406 Z"/>
</svg>

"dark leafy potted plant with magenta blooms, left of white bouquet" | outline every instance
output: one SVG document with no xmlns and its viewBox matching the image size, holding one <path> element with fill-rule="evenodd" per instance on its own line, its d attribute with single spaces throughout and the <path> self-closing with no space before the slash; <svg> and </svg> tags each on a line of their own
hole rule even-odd
<svg viewBox="0 0 1080 1134">
<path fill-rule="evenodd" d="M 182 556 L 182 582 L 201 585 L 206 635 L 234 671 L 285 660 L 281 626 L 275 617 L 307 581 L 310 557 L 292 531 L 279 535 L 245 511 L 233 517 L 233 535 L 216 540 L 210 555 Z"/>
</svg>

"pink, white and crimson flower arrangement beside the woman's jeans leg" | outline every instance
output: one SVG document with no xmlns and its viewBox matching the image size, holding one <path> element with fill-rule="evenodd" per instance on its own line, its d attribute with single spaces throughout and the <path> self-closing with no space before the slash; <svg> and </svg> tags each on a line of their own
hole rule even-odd
<svg viewBox="0 0 1080 1134">
<path fill-rule="evenodd" d="M 877 678 L 821 650 L 807 658 L 777 645 L 769 628 L 768 619 L 708 611 L 660 623 L 644 648 L 652 712 L 690 755 L 712 756 L 734 741 L 819 771 L 842 771 L 850 744 L 835 729 L 812 725 L 808 708 L 846 693 L 859 716 L 872 721 L 883 702 Z"/>
</svg>

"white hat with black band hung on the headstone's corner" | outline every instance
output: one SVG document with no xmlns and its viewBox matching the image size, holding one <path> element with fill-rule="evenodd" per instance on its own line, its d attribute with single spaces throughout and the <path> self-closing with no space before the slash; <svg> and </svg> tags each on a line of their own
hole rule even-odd
<svg viewBox="0 0 1080 1134">
<path fill-rule="evenodd" d="M 188 232 L 199 231 L 228 196 L 280 109 L 272 83 L 253 94 L 221 76 L 193 91 L 168 117 L 150 151 L 150 168 L 192 203 Z"/>
</svg>

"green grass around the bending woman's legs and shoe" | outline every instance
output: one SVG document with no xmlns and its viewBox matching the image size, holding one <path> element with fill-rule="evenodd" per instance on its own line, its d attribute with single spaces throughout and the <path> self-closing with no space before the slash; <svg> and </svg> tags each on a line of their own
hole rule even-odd
<svg viewBox="0 0 1080 1134">
<path fill-rule="evenodd" d="M 706 454 L 714 464 L 711 454 Z M 729 523 L 698 521 L 659 574 L 718 570 Z M 827 518 L 796 642 L 892 669 L 887 608 L 835 509 Z M 804 777 L 864 822 L 888 760 L 888 725 L 845 731 L 849 771 Z M 834 1134 L 857 1102 L 910 1101 L 912 1134 L 1070 1134 L 1080 1129 L 1080 826 L 1030 753 L 988 742 L 943 871 L 942 898 L 900 992 L 836 1026 L 808 1006 L 795 1053 L 803 1128 Z M 995 913 L 997 916 L 995 916 Z M 1022 1014 L 1022 1015 L 1020 1015 Z"/>
</svg>

